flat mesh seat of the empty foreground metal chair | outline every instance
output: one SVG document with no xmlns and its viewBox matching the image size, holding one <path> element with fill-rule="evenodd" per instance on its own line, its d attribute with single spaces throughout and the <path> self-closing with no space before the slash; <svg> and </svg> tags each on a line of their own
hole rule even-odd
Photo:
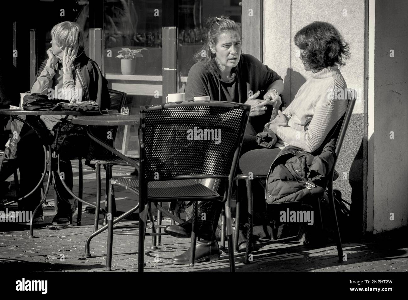
<svg viewBox="0 0 408 300">
<path fill-rule="evenodd" d="M 111 184 L 139 194 L 139 179 L 135 177 L 112 178 Z M 147 186 L 149 200 L 157 202 L 184 201 L 191 198 L 219 200 L 221 196 L 195 179 L 151 181 Z"/>
</svg>

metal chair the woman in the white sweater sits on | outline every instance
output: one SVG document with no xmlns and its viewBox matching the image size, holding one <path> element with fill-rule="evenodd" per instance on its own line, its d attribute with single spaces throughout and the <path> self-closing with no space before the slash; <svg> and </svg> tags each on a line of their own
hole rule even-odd
<svg viewBox="0 0 408 300">
<path fill-rule="evenodd" d="M 352 92 L 349 95 L 348 107 L 347 107 L 346 113 L 344 113 L 344 115 L 336 123 L 335 127 L 333 127 L 333 129 L 328 134 L 328 138 L 333 138 L 337 136 L 336 148 L 335 148 L 335 153 L 336 153 L 335 161 L 333 164 L 333 168 L 331 169 L 330 173 L 327 176 L 328 181 L 326 182 L 326 189 L 328 190 L 330 208 L 334 216 L 333 223 L 334 223 L 334 229 L 335 229 L 335 238 L 336 238 L 337 254 L 339 257 L 339 262 L 341 262 L 343 259 L 343 249 L 341 247 L 339 223 L 337 222 L 335 199 L 333 196 L 333 176 L 335 174 L 335 166 L 336 166 L 337 158 L 339 157 L 339 154 L 340 154 L 341 145 L 343 144 L 344 136 L 346 135 L 346 131 L 348 127 L 348 123 L 350 122 L 350 118 L 353 113 L 355 101 L 356 101 L 355 92 Z M 328 138 L 326 138 L 326 140 L 328 140 Z M 324 144 L 326 144 L 326 142 L 324 142 Z M 255 180 L 266 180 L 266 175 L 252 175 L 251 178 Z M 248 174 L 240 174 L 235 177 L 236 180 L 245 180 L 246 189 L 247 189 L 247 199 L 248 199 L 248 223 L 247 224 L 248 226 L 247 226 L 247 236 L 246 236 L 247 243 L 246 243 L 245 260 L 244 260 L 244 263 L 246 264 L 249 263 L 248 258 L 250 257 L 251 247 L 252 247 L 253 194 L 252 194 L 252 181 L 251 181 L 252 179 L 251 178 L 249 177 Z M 321 226 L 321 229 L 323 230 L 324 228 L 323 221 L 320 215 L 320 212 L 321 212 L 320 198 L 322 197 L 318 197 L 316 198 L 316 200 L 317 200 L 317 205 L 319 209 L 320 226 Z M 272 204 L 272 205 L 281 205 L 281 204 Z M 234 232 L 234 250 L 235 251 L 238 251 L 238 231 L 239 231 L 239 222 L 240 222 L 239 220 L 240 208 L 239 207 L 240 207 L 239 202 L 237 202 L 235 232 Z M 222 228 L 222 230 L 225 231 L 225 228 Z"/>
</svg>

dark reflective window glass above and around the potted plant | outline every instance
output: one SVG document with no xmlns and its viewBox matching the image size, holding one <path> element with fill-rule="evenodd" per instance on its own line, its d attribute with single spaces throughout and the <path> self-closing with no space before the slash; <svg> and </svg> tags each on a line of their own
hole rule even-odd
<svg viewBox="0 0 408 300">
<path fill-rule="evenodd" d="M 111 56 L 104 58 L 105 73 L 122 74 L 116 56 L 122 48 L 141 49 L 132 75 L 162 74 L 162 0 L 105 0 L 104 42 Z"/>
</svg>

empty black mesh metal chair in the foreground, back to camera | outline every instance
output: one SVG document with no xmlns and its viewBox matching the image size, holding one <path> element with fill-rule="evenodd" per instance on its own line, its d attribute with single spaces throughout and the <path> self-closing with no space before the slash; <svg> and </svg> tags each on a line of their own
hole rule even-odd
<svg viewBox="0 0 408 300">
<path fill-rule="evenodd" d="M 139 203 L 131 211 L 139 209 L 139 259 L 138 270 L 144 269 L 144 236 L 165 233 L 146 233 L 146 222 L 151 203 L 166 215 L 159 202 L 194 201 L 197 216 L 197 201 L 224 201 L 227 223 L 227 238 L 230 246 L 231 271 L 235 271 L 232 248 L 231 189 L 248 122 L 250 106 L 220 101 L 186 101 L 163 103 L 140 107 L 140 171 L 139 178 L 113 178 L 109 184 L 109 198 L 113 185 L 126 188 L 139 196 Z M 197 180 L 223 178 L 226 184 L 224 195 L 205 187 Z M 108 201 L 108 214 L 112 212 L 112 201 Z M 118 217 L 118 219 L 120 219 Z M 179 220 L 178 222 L 180 222 Z M 111 269 L 113 224 L 108 220 L 108 247 L 106 270 Z M 151 224 L 151 226 L 154 224 Z M 190 265 L 195 256 L 195 220 L 192 223 Z"/>
</svg>

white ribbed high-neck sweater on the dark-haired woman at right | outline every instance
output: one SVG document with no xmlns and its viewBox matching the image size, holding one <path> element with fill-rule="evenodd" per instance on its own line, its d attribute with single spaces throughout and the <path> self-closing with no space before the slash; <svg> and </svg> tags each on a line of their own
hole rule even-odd
<svg viewBox="0 0 408 300">
<path fill-rule="evenodd" d="M 295 99 L 283 111 L 288 118 L 288 126 L 277 127 L 278 142 L 307 152 L 319 148 L 330 129 L 346 112 L 346 89 L 347 84 L 337 66 L 312 73 L 312 78 L 300 87 Z M 306 121 L 311 117 L 307 130 L 304 130 Z"/>
</svg>

